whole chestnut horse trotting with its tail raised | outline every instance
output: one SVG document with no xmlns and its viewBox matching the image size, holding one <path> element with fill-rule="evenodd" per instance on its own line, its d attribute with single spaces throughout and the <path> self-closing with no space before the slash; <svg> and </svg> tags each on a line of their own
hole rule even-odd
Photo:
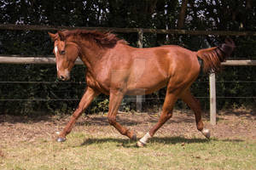
<svg viewBox="0 0 256 170">
<path fill-rule="evenodd" d="M 147 144 L 148 139 L 172 117 L 177 99 L 189 105 L 195 113 L 197 129 L 210 138 L 201 120 L 199 102 L 190 93 L 190 86 L 201 71 L 199 59 L 203 61 L 203 71 L 216 72 L 226 56 L 230 56 L 235 44 L 226 40 L 219 47 L 201 49 L 197 52 L 176 45 L 155 48 L 133 48 L 125 40 L 114 34 L 100 31 L 58 31 L 49 33 L 54 42 L 57 77 L 62 81 L 70 78 L 74 61 L 80 57 L 87 67 L 87 87 L 79 106 L 73 112 L 67 126 L 59 134 L 57 141 L 63 142 L 71 132 L 74 123 L 98 94 L 108 94 L 108 122 L 119 133 L 130 139 L 137 139 L 136 133 L 116 122 L 119 105 L 127 95 L 151 94 L 166 87 L 166 99 L 160 119 L 137 142 Z"/>
</svg>

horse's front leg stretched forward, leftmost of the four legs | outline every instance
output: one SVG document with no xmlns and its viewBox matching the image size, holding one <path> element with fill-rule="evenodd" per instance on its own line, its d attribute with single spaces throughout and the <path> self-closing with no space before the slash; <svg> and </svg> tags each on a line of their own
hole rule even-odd
<svg viewBox="0 0 256 170">
<path fill-rule="evenodd" d="M 60 133 L 60 135 L 57 138 L 58 142 L 64 142 L 66 140 L 66 136 L 68 133 L 71 132 L 74 123 L 78 120 L 79 116 L 84 112 L 84 110 L 90 105 L 91 101 L 98 95 L 96 90 L 88 87 L 82 97 L 82 99 L 79 102 L 79 106 L 76 109 L 76 111 L 73 112 L 73 115 L 71 116 L 70 121 L 67 123 L 66 127 L 64 127 L 63 131 Z"/>
</svg>

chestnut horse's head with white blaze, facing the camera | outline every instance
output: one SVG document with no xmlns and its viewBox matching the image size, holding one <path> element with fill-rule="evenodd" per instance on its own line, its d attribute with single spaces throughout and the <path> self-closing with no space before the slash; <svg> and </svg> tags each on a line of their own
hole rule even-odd
<svg viewBox="0 0 256 170">
<path fill-rule="evenodd" d="M 53 53 L 55 54 L 57 77 L 61 81 L 67 81 L 70 79 L 70 71 L 74 62 L 79 56 L 79 47 L 74 42 L 67 42 L 63 32 L 49 33 L 49 37 L 54 42 Z"/>
</svg>

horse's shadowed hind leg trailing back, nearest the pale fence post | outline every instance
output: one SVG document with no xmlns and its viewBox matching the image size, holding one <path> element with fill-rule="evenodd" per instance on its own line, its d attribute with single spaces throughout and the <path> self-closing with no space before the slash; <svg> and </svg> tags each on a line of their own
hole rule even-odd
<svg viewBox="0 0 256 170">
<path fill-rule="evenodd" d="M 190 93 L 189 90 L 183 93 L 183 101 L 189 105 L 189 107 L 194 111 L 196 127 L 201 133 L 207 138 L 210 138 L 210 131 L 207 128 L 204 128 L 204 124 L 201 120 L 201 105 L 197 99 Z"/>
</svg>

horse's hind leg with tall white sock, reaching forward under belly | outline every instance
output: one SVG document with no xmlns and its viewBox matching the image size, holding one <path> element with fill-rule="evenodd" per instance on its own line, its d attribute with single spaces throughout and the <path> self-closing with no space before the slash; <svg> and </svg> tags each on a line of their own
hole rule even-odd
<svg viewBox="0 0 256 170">
<path fill-rule="evenodd" d="M 154 136 L 154 133 L 156 133 L 156 131 L 172 117 L 172 110 L 177 101 L 177 94 L 179 94 L 178 91 L 179 90 L 169 93 L 167 90 L 163 110 L 161 112 L 158 122 L 154 125 L 154 127 L 150 129 L 148 133 L 144 135 L 142 139 L 137 141 L 137 146 L 143 147 L 143 145 L 147 144 L 148 139 L 152 138 Z"/>
</svg>

